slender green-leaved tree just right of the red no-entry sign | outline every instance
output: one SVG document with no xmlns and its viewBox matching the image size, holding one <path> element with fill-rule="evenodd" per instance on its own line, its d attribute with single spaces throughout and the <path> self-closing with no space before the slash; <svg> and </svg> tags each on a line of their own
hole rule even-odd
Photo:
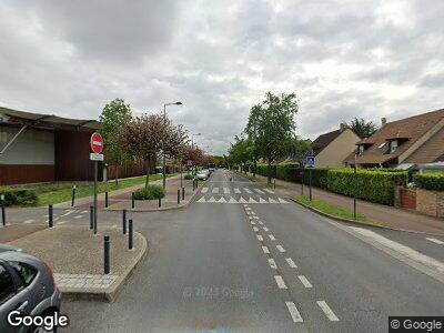
<svg viewBox="0 0 444 333">
<path fill-rule="evenodd" d="M 107 161 L 115 165 L 115 183 L 119 183 L 119 165 L 131 161 L 131 157 L 120 144 L 118 138 L 122 125 L 131 120 L 131 107 L 122 99 L 108 103 L 100 114 L 102 129 L 100 133 L 104 140 L 104 155 Z"/>
</svg>

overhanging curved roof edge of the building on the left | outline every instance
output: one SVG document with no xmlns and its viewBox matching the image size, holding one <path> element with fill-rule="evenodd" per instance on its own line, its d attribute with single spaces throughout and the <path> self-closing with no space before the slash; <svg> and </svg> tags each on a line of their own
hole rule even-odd
<svg viewBox="0 0 444 333">
<path fill-rule="evenodd" d="M 31 113 L 0 107 L 0 123 L 27 123 L 37 128 L 58 128 L 60 125 L 77 129 L 97 130 L 101 123 L 97 120 L 62 118 L 53 114 Z"/>
</svg>

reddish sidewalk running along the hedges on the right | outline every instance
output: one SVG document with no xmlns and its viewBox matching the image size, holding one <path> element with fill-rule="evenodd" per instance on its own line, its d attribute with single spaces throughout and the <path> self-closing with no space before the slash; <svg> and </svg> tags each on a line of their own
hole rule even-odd
<svg viewBox="0 0 444 333">
<path fill-rule="evenodd" d="M 251 178 L 252 174 L 249 173 Z M 256 181 L 266 183 L 266 176 L 258 175 Z M 286 182 L 276 179 L 276 191 L 291 198 L 301 195 L 302 185 L 299 183 Z M 304 195 L 309 195 L 309 186 L 304 185 Z M 343 209 L 353 211 L 353 198 L 312 188 L 312 196 Z M 430 233 L 444 235 L 444 220 L 422 215 L 417 212 L 396 209 L 367 201 L 357 200 L 357 211 L 367 219 L 380 223 L 383 226 L 403 230 L 415 233 Z"/>
</svg>

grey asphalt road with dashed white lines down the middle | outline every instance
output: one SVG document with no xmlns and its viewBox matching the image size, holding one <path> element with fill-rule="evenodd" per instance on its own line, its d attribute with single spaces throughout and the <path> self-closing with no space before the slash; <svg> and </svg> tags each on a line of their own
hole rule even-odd
<svg viewBox="0 0 444 333">
<path fill-rule="evenodd" d="M 114 303 L 63 302 L 67 331 L 386 332 L 390 315 L 444 315 L 443 238 L 339 224 L 228 171 L 200 191 L 132 214 L 148 256 Z"/>
</svg>

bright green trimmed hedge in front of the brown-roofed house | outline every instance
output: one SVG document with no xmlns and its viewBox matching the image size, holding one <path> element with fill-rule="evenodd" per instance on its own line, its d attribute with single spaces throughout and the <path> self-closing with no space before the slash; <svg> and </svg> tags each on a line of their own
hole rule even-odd
<svg viewBox="0 0 444 333">
<path fill-rule="evenodd" d="M 395 186 L 406 181 L 407 172 L 359 170 L 355 178 L 353 169 L 335 169 L 326 175 L 329 191 L 387 205 L 394 203 Z"/>
</svg>

